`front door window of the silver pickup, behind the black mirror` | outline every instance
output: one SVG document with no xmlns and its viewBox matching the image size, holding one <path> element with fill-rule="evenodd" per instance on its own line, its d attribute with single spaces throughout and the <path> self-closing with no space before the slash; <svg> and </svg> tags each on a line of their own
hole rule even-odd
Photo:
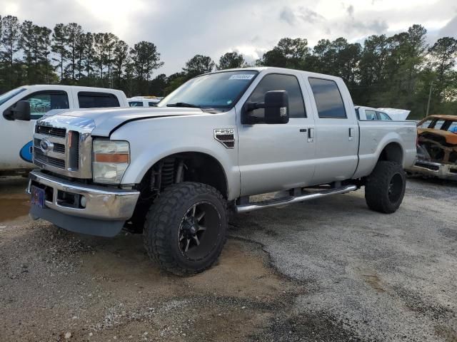
<svg viewBox="0 0 457 342">
<path fill-rule="evenodd" d="M 301 94 L 300 85 L 295 76 L 281 75 L 271 73 L 266 75 L 256 86 L 248 103 L 263 102 L 265 93 L 271 90 L 286 90 L 288 93 L 288 112 L 289 118 L 306 118 L 305 105 L 303 103 L 303 95 Z M 251 116 L 258 118 L 258 123 L 262 123 L 265 118 L 265 110 L 259 108 L 253 110 Z"/>
</svg>

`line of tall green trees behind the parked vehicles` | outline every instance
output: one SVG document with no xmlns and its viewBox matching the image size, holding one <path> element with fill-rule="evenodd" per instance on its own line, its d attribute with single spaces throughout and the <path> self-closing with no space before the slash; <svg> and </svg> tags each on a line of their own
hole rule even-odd
<svg viewBox="0 0 457 342">
<path fill-rule="evenodd" d="M 306 38 L 282 38 L 251 65 L 237 52 L 225 53 L 219 63 L 196 55 L 178 73 L 155 76 L 164 62 L 149 41 L 129 46 L 113 33 L 86 32 L 76 23 L 50 29 L 0 16 L 1 93 L 24 84 L 61 83 L 117 88 L 128 96 L 166 95 L 201 73 L 277 66 L 340 76 L 354 103 L 406 108 L 422 118 L 428 105 L 430 113 L 457 114 L 456 61 L 455 38 L 428 44 L 426 29 L 413 25 L 393 36 L 369 36 L 363 44 L 341 37 L 311 48 Z"/>
</svg>

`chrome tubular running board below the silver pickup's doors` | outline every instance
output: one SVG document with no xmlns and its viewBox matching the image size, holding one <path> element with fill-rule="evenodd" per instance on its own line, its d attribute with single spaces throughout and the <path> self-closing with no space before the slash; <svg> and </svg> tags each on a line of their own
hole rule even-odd
<svg viewBox="0 0 457 342">
<path fill-rule="evenodd" d="M 323 190 L 319 192 L 311 192 L 306 195 L 290 196 L 286 198 L 273 199 L 265 202 L 251 202 L 248 204 L 240 204 L 236 206 L 236 212 L 253 212 L 254 210 L 278 207 L 280 205 L 293 204 L 298 202 L 308 201 L 309 199 L 316 199 L 326 197 L 329 195 L 346 194 L 346 192 L 356 191 L 356 185 L 346 185 L 346 187 L 338 187 L 336 189 Z"/>
</svg>

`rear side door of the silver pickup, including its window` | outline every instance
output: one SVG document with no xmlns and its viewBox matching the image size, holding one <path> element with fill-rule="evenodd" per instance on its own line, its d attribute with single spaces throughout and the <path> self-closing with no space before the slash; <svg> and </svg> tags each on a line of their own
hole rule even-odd
<svg viewBox="0 0 457 342">
<path fill-rule="evenodd" d="M 336 81 L 308 77 L 316 120 L 316 171 L 313 184 L 350 179 L 358 162 L 358 124 L 351 101 L 343 100 Z"/>
</svg>

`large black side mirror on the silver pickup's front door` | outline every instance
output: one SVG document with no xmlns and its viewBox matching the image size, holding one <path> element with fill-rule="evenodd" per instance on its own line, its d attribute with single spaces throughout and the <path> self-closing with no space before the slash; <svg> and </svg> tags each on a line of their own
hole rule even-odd
<svg viewBox="0 0 457 342">
<path fill-rule="evenodd" d="M 252 110 L 265 108 L 264 122 L 268 124 L 288 123 L 288 93 L 286 90 L 271 90 L 265 93 L 263 103 L 246 103 L 243 108 L 242 123 L 252 125 L 258 118 L 250 114 Z"/>
</svg>

